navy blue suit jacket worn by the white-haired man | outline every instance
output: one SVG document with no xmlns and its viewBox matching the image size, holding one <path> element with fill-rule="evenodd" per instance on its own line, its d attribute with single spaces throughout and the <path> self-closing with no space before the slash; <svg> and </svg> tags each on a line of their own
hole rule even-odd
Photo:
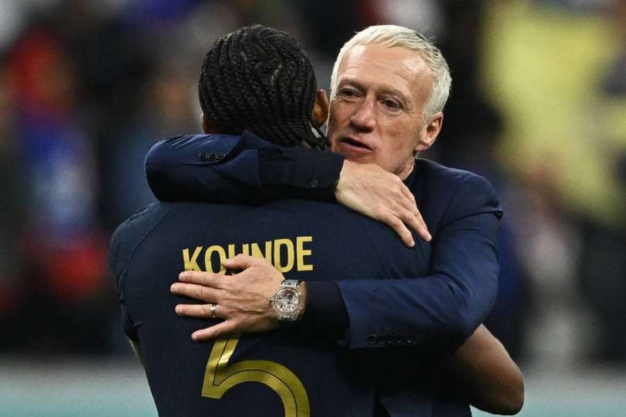
<svg viewBox="0 0 626 417">
<path fill-rule="evenodd" d="M 245 133 L 159 142 L 147 156 L 146 170 L 160 199 L 245 201 L 275 193 L 328 198 L 341 163 L 340 156 L 275 147 Z M 367 274 L 356 280 L 334 278 L 348 316 L 346 346 L 383 349 L 378 360 L 390 358 L 385 348 L 399 344 L 396 334 L 443 351 L 458 346 L 481 323 L 497 292 L 501 209 L 489 183 L 470 172 L 417 159 L 407 184 L 433 234 L 428 272 L 393 280 Z M 426 414 L 415 414 L 428 387 L 416 388 L 412 381 L 415 375 L 402 366 L 379 375 L 380 399 L 391 416 L 430 415 L 426 409 Z M 445 404 L 435 403 L 430 412 L 465 415 L 452 406 L 447 411 Z M 467 404 L 463 412 L 468 412 Z"/>
</svg>

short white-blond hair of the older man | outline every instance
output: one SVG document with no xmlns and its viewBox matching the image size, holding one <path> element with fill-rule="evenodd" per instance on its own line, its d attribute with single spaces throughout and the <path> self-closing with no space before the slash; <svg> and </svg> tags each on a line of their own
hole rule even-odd
<svg viewBox="0 0 626 417">
<path fill-rule="evenodd" d="M 337 55 L 335 66 L 332 67 L 330 99 L 335 97 L 335 92 L 337 91 L 337 72 L 339 72 L 339 64 L 342 62 L 344 55 L 353 47 L 369 44 L 378 44 L 388 48 L 404 47 L 411 51 L 416 51 L 424 59 L 428 68 L 430 68 L 433 77 L 433 90 L 431 91 L 431 97 L 428 97 L 426 106 L 424 106 L 424 117 L 430 117 L 443 110 L 450 95 L 452 83 L 446 59 L 433 42 L 430 42 L 410 28 L 394 24 L 369 26 L 369 28 L 358 32 L 344 44 L 339 51 L 339 55 Z"/>
</svg>

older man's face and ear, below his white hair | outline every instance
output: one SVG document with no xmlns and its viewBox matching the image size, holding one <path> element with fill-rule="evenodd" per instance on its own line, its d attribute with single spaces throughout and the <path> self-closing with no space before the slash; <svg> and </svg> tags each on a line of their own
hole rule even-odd
<svg viewBox="0 0 626 417">
<path fill-rule="evenodd" d="M 441 113 L 423 117 L 432 85 L 431 70 L 415 51 L 353 47 L 339 64 L 330 102 L 332 151 L 406 178 L 415 153 L 432 144 L 441 126 Z"/>
</svg>

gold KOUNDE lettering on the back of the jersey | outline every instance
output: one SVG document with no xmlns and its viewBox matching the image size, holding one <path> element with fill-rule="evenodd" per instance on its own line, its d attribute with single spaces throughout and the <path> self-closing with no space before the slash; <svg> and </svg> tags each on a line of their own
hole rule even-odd
<svg viewBox="0 0 626 417">
<path fill-rule="evenodd" d="M 280 272 L 312 271 L 313 236 L 297 236 L 295 241 L 288 238 L 266 240 L 264 243 L 228 243 L 227 245 L 196 246 L 190 256 L 190 249 L 182 250 L 184 269 L 186 271 L 206 271 L 224 273 L 223 262 L 234 258 L 237 254 L 246 254 L 256 258 L 264 258 Z M 198 264 L 198 258 L 204 251 L 204 268 Z"/>
</svg>

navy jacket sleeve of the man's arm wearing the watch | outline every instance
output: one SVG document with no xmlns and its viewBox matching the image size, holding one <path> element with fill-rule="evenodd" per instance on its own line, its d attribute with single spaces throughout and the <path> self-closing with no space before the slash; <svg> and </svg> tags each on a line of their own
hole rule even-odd
<svg viewBox="0 0 626 417">
<path fill-rule="evenodd" d="M 483 321 L 497 295 L 497 197 L 485 179 L 471 175 L 442 210 L 430 275 L 337 281 L 349 348 L 419 344 L 450 352 Z"/>
</svg>

